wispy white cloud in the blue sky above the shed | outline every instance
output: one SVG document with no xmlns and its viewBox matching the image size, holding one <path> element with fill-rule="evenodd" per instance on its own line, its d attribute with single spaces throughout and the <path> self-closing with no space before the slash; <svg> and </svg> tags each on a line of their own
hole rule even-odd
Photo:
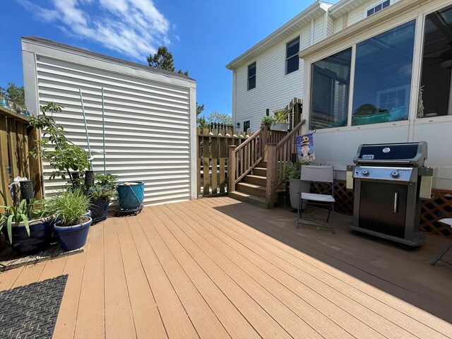
<svg viewBox="0 0 452 339">
<path fill-rule="evenodd" d="M 133 59 L 145 58 L 169 41 L 169 21 L 152 0 L 51 0 L 45 8 L 16 0 L 66 35 L 102 44 Z"/>
</svg>

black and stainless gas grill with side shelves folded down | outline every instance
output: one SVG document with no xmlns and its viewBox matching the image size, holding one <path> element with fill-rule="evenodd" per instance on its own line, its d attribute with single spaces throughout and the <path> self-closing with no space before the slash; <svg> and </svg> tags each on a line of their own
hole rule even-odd
<svg viewBox="0 0 452 339">
<path fill-rule="evenodd" d="M 420 200 L 429 199 L 433 169 L 423 167 L 427 143 L 359 145 L 347 166 L 347 189 L 355 186 L 353 222 L 350 228 L 420 246 Z"/>
</svg>

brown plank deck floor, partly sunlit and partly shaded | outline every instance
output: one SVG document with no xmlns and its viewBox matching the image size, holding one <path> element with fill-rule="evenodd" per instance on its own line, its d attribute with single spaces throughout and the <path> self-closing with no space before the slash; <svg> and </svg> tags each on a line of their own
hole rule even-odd
<svg viewBox="0 0 452 339">
<path fill-rule="evenodd" d="M 451 338 L 452 266 L 230 198 L 145 208 L 85 251 L 0 273 L 0 290 L 69 280 L 54 338 Z M 451 254 L 448 254 L 451 258 Z"/>
</svg>

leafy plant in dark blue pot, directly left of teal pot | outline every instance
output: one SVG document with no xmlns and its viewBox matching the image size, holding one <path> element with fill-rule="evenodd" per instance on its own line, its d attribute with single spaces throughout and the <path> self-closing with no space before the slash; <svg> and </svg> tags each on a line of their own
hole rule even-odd
<svg viewBox="0 0 452 339">
<path fill-rule="evenodd" d="M 94 184 L 88 189 L 90 210 L 93 222 L 105 220 L 112 198 L 117 196 L 117 176 L 113 174 L 95 174 Z"/>
</svg>

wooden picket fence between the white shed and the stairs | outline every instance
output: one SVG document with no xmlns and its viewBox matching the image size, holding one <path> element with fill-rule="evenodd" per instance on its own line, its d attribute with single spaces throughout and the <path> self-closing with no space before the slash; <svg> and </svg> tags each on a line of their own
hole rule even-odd
<svg viewBox="0 0 452 339">
<path fill-rule="evenodd" d="M 240 145 L 249 132 L 196 129 L 197 194 L 227 194 L 227 146 Z"/>
</svg>

